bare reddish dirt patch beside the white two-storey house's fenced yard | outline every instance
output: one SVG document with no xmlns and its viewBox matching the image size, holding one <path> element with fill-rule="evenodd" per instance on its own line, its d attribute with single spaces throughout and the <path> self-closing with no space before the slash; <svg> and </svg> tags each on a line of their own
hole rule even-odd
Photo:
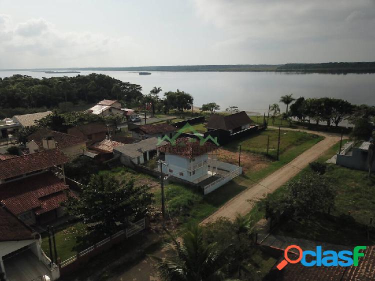
<svg viewBox="0 0 375 281">
<path fill-rule="evenodd" d="M 218 151 L 218 160 L 227 162 L 230 164 L 238 165 L 238 152 L 232 152 L 223 148 Z M 250 152 L 241 152 L 241 162 L 240 165 L 243 167 L 243 171 L 257 171 L 265 168 L 269 165 L 271 161 L 263 155 L 257 155 Z"/>
</svg>

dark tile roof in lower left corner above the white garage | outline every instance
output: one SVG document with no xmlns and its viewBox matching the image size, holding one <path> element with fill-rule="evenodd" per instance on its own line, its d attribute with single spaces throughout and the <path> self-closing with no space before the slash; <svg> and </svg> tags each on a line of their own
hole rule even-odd
<svg viewBox="0 0 375 281">
<path fill-rule="evenodd" d="M 0 241 L 33 239 L 32 230 L 0 204 Z"/>
</svg>

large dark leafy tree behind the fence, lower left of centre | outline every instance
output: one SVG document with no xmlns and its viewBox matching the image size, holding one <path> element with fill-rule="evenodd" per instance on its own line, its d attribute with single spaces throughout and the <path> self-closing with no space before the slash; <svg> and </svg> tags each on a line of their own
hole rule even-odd
<svg viewBox="0 0 375 281">
<path fill-rule="evenodd" d="M 93 175 L 78 197 L 64 203 L 68 214 L 83 220 L 89 228 L 111 234 L 143 217 L 152 202 L 150 187 L 135 187 L 133 180 L 118 181 L 111 175 Z"/>
</svg>

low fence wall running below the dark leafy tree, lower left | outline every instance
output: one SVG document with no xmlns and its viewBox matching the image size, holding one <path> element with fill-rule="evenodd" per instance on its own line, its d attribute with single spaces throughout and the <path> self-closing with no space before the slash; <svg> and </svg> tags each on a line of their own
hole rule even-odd
<svg viewBox="0 0 375 281">
<path fill-rule="evenodd" d="M 130 224 L 131 224 L 131 226 L 126 228 L 125 230 L 120 230 L 120 231 L 114 233 L 113 235 L 110 235 L 110 236 L 106 237 L 105 239 L 101 240 L 100 242 L 97 242 L 94 245 L 82 250 L 78 254 L 73 255 L 73 256 L 69 257 L 68 259 L 65 259 L 64 261 L 62 261 L 60 263 L 60 266 L 64 267 L 64 266 L 68 265 L 69 263 L 75 261 L 78 258 L 78 256 L 85 255 L 85 254 L 93 251 L 94 249 L 102 246 L 103 244 L 108 243 L 110 240 L 112 240 L 112 239 L 114 239 L 114 238 L 116 238 L 120 235 L 125 234 L 126 238 L 128 238 L 128 237 L 130 237 L 130 236 L 132 236 L 132 235 L 134 235 L 134 234 L 136 234 L 136 233 L 138 233 L 138 232 L 140 232 L 140 231 L 142 231 L 143 229 L 146 228 L 146 222 L 145 222 L 144 218 L 142 218 L 142 219 L 140 219 L 136 222 L 131 222 Z"/>
</svg>

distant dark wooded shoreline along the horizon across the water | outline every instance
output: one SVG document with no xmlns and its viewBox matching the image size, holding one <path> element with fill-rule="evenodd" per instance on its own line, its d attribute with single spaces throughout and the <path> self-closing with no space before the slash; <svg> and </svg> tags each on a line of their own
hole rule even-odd
<svg viewBox="0 0 375 281">
<path fill-rule="evenodd" d="M 1 69 L 2 71 L 44 71 L 45 73 L 79 73 L 86 71 L 273 71 L 299 73 L 375 73 L 375 61 L 363 62 L 322 62 L 322 63 L 286 63 L 286 64 L 212 64 L 212 65 L 164 65 L 131 67 L 71 67 L 47 69 Z M 0 70 L 0 71 L 1 71 Z M 61 70 L 61 71 L 54 71 Z M 140 75 L 150 74 L 139 72 Z"/>
</svg>

